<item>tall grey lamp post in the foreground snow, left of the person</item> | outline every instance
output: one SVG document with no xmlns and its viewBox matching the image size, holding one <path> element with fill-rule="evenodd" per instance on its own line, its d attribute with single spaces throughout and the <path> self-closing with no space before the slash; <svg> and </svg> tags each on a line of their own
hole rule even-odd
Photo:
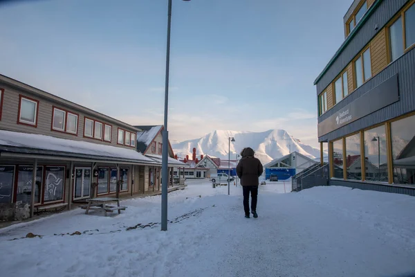
<svg viewBox="0 0 415 277">
<path fill-rule="evenodd" d="M 190 1 L 190 0 L 183 0 Z M 172 26 L 172 0 L 169 0 L 167 11 L 167 51 L 166 51 L 166 79 L 165 79 L 165 110 L 163 129 L 163 148 L 161 160 L 162 187 L 161 187 L 161 231 L 167 231 L 167 180 L 169 179 L 168 154 L 169 132 L 167 131 L 167 111 L 169 106 L 169 65 L 170 65 L 170 29 Z"/>
</svg>

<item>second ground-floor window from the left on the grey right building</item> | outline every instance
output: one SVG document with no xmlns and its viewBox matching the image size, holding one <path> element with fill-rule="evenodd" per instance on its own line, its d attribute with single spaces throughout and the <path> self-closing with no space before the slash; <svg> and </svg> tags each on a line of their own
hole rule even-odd
<svg viewBox="0 0 415 277">
<path fill-rule="evenodd" d="M 349 180 L 362 179 L 362 162 L 360 159 L 360 134 L 346 138 L 346 173 Z"/>
</svg>

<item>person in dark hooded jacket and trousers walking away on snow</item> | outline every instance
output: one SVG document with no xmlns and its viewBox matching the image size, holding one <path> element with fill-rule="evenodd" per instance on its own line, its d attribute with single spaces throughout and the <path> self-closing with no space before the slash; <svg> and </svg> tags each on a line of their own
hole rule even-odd
<svg viewBox="0 0 415 277">
<path fill-rule="evenodd" d="M 257 197 L 259 176 L 261 176 L 264 168 L 262 168 L 261 161 L 254 157 L 255 152 L 252 148 L 243 148 L 241 151 L 242 159 L 237 166 L 237 175 L 241 179 L 241 186 L 243 189 L 243 209 L 245 210 L 245 217 L 249 218 L 249 195 L 251 195 L 251 212 L 255 218 L 257 215 Z"/>
</svg>

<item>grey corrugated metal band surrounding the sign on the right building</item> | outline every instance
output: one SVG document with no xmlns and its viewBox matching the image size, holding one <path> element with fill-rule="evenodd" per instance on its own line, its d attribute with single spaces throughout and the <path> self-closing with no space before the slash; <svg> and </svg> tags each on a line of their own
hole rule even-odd
<svg viewBox="0 0 415 277">
<path fill-rule="evenodd" d="M 389 105 L 383 109 L 375 111 L 373 114 L 369 114 L 364 118 L 360 118 L 349 125 L 345 125 L 329 134 L 321 136 L 319 141 L 332 141 L 340 136 L 346 136 L 352 132 L 356 132 L 360 129 L 370 127 L 372 125 L 382 123 L 391 118 L 407 114 L 411 111 L 415 111 L 415 48 L 400 57 L 395 62 L 389 64 L 386 69 L 381 71 L 378 75 L 374 76 L 371 80 L 362 84 L 361 87 L 356 89 L 347 98 L 344 98 L 338 105 L 326 111 L 325 114 L 318 118 L 320 123 L 322 120 L 328 118 L 336 111 L 342 109 L 353 100 L 356 100 L 362 96 L 365 92 L 378 86 L 381 82 L 384 82 L 391 76 L 398 73 L 398 86 L 400 100 L 392 105 Z"/>
</svg>

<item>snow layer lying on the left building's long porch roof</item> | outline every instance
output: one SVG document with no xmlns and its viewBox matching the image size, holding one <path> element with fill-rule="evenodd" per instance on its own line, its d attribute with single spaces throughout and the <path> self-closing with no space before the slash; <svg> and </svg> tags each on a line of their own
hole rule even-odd
<svg viewBox="0 0 415 277">
<path fill-rule="evenodd" d="M 48 150 L 55 155 L 74 154 L 89 156 L 91 159 L 124 159 L 137 163 L 156 163 L 135 149 L 120 148 L 111 145 L 59 139 L 42 134 L 28 134 L 0 130 L 0 145 L 28 149 L 29 154 L 35 150 Z M 4 148 L 3 148 L 4 150 Z M 11 150 L 10 150 L 11 151 Z M 157 163 L 158 164 L 158 163 Z"/>
</svg>

